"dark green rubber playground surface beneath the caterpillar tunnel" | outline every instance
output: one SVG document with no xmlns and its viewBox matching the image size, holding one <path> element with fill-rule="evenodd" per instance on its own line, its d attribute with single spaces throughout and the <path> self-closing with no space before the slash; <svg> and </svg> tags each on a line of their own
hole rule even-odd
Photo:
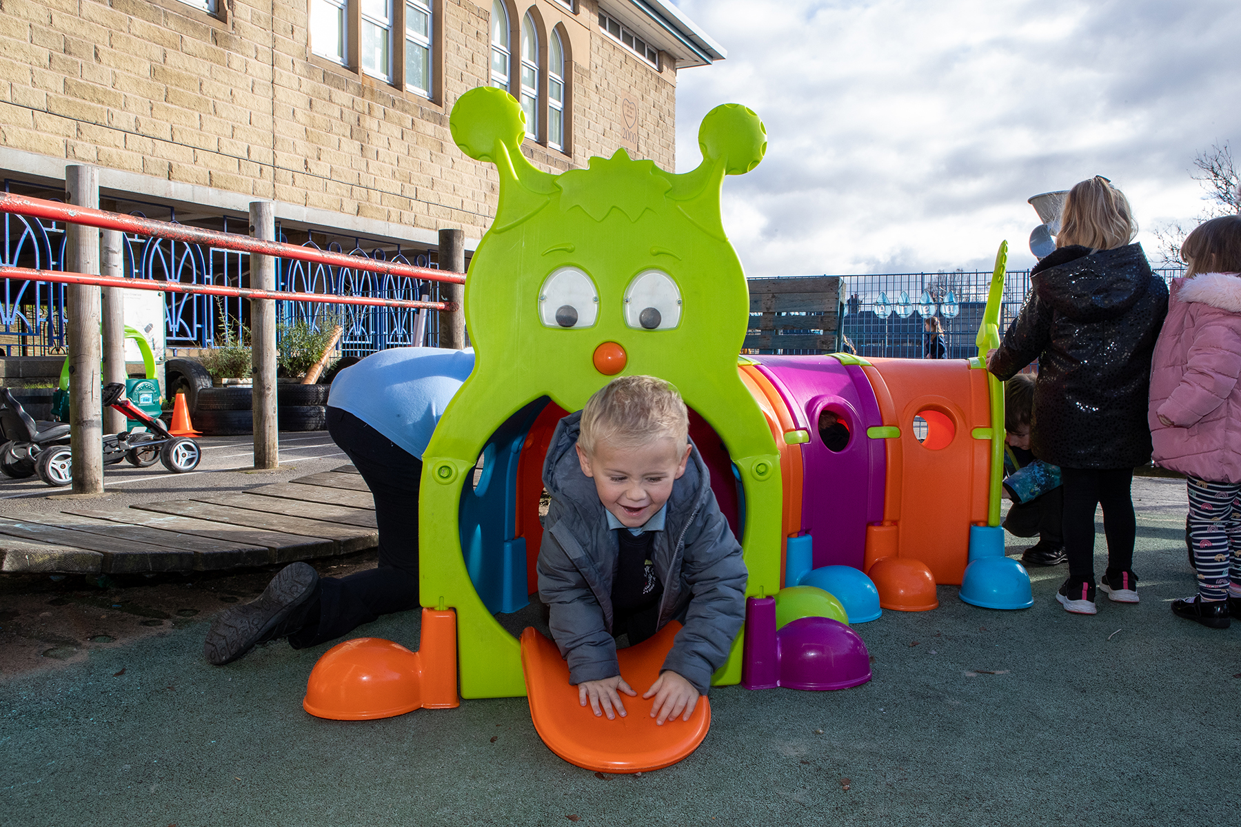
<svg viewBox="0 0 1241 827">
<path fill-rule="evenodd" d="M 1207 630 L 1168 610 L 1193 591 L 1183 486 L 1134 485 L 1140 604 L 1101 593 L 1097 615 L 1069 615 L 1054 598 L 1065 567 L 1033 572 L 1025 611 L 942 586 L 934 611 L 856 627 L 870 683 L 716 689 L 699 750 L 640 776 L 565 764 L 520 698 L 313 718 L 300 702 L 326 646 L 210 667 L 204 613 L 0 677 L 0 823 L 1200 823 L 1241 756 L 1227 724 L 1241 624 Z M 416 646 L 418 614 L 360 631 Z"/>
</svg>

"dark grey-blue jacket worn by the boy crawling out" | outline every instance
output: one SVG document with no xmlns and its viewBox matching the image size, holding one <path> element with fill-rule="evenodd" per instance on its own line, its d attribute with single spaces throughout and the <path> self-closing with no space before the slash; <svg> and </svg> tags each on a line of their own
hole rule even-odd
<svg viewBox="0 0 1241 827">
<path fill-rule="evenodd" d="M 619 548 L 594 480 L 582 474 L 577 460 L 581 415 L 561 419 L 552 435 L 544 464 L 551 508 L 539 551 L 539 595 L 551 609 L 551 634 L 568 661 L 573 684 L 620 673 L 612 637 L 612 582 Z M 673 485 L 666 508 L 652 558 L 664 584 L 659 627 L 683 613 L 685 627 L 676 632 L 663 670 L 676 672 L 705 694 L 711 673 L 727 660 L 741 629 L 747 574 L 741 546 L 720 513 L 696 448 Z"/>
</svg>

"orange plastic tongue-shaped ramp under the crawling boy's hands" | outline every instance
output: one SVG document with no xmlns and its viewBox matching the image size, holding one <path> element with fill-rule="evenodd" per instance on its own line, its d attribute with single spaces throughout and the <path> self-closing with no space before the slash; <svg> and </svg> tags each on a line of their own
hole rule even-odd
<svg viewBox="0 0 1241 827">
<path fill-rule="evenodd" d="M 530 718 L 547 748 L 570 764 L 603 772 L 645 772 L 671 766 L 702 743 L 711 728 L 711 705 L 699 698 L 690 719 L 655 724 L 650 717 L 654 698 L 645 692 L 664 663 L 680 624 L 673 621 L 654 637 L 617 652 L 620 676 L 638 691 L 624 697 L 629 714 L 594 717 L 577 701 L 577 687 L 568 682 L 568 665 L 556 643 L 535 629 L 521 632 L 521 668 L 526 676 Z"/>
</svg>

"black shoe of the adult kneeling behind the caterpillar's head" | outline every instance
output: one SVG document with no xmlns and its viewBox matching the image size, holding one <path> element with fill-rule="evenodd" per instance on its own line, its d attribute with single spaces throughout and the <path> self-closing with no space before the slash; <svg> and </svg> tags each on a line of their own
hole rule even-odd
<svg viewBox="0 0 1241 827">
<path fill-rule="evenodd" d="M 318 585 L 319 573 L 309 563 L 285 565 L 256 600 L 226 609 L 215 619 L 202 643 L 207 662 L 232 663 L 258 643 L 295 632 L 305 616 L 298 609 L 307 605 Z"/>
</svg>

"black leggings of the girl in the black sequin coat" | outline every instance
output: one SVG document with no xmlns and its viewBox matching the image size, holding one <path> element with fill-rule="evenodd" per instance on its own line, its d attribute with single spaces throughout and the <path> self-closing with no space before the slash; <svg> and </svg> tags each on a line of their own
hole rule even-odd
<svg viewBox="0 0 1241 827">
<path fill-rule="evenodd" d="M 1133 469 L 1060 469 L 1065 490 L 1065 553 L 1072 580 L 1095 582 L 1095 508 L 1103 506 L 1107 570 L 1133 570 L 1138 523 L 1133 513 Z"/>
</svg>

